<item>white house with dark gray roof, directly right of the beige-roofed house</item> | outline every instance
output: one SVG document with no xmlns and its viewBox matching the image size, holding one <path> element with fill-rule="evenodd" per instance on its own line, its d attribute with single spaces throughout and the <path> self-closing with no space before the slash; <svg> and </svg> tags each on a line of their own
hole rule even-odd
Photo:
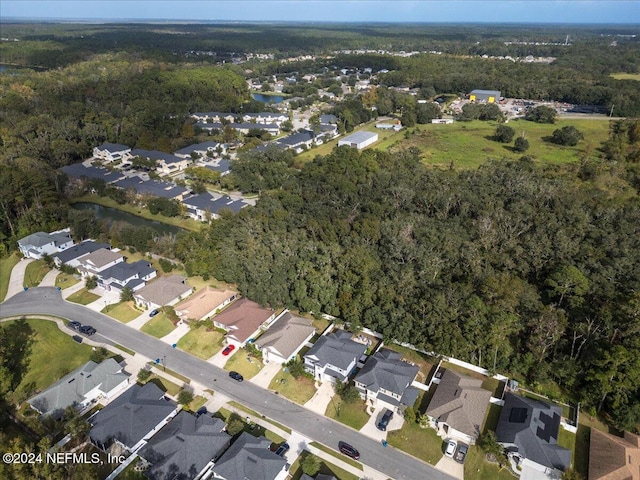
<svg viewBox="0 0 640 480">
<path fill-rule="evenodd" d="M 305 369 L 319 382 L 346 382 L 367 346 L 351 339 L 344 330 L 336 330 L 320 337 L 304 354 Z"/>
</svg>

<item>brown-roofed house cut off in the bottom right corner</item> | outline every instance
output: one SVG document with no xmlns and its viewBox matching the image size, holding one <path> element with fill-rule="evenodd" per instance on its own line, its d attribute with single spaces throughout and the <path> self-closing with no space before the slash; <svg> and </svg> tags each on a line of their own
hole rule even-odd
<svg viewBox="0 0 640 480">
<path fill-rule="evenodd" d="M 640 480 L 640 436 L 591 428 L 588 480 Z"/>
</svg>

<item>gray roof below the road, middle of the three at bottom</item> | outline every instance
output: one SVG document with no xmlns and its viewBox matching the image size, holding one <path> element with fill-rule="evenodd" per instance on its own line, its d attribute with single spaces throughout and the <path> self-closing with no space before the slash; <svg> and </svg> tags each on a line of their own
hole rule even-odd
<svg viewBox="0 0 640 480">
<path fill-rule="evenodd" d="M 195 478 L 229 446 L 231 436 L 223 429 L 219 418 L 196 418 L 182 410 L 138 452 L 151 463 L 145 475 L 151 480 Z"/>
</svg>

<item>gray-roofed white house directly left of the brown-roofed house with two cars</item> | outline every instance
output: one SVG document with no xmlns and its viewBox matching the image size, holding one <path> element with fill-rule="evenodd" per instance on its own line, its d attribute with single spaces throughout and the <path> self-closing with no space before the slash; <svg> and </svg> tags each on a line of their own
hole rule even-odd
<svg viewBox="0 0 640 480">
<path fill-rule="evenodd" d="M 412 407 L 420 391 L 411 386 L 420 369 L 387 348 L 369 357 L 353 379 L 360 396 L 373 408 L 401 413 Z"/>
</svg>

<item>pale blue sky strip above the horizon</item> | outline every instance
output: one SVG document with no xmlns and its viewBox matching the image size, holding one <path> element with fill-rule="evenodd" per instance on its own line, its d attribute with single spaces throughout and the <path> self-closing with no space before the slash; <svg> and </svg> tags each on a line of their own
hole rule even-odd
<svg viewBox="0 0 640 480">
<path fill-rule="evenodd" d="M 640 24 L 640 0 L 1 0 L 15 18 Z"/>
</svg>

